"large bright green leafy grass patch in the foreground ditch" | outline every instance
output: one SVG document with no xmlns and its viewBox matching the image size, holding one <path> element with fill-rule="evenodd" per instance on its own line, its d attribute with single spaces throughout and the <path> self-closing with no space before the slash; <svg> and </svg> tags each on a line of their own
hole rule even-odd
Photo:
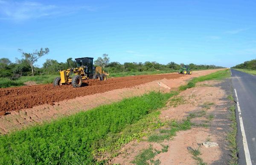
<svg viewBox="0 0 256 165">
<path fill-rule="evenodd" d="M 110 142 L 103 143 L 105 148 L 115 148 L 143 136 L 138 126 L 144 124 L 146 129 L 145 122 L 160 127 L 154 113 L 174 95 L 177 92 L 152 92 L 0 136 L 0 164 L 95 164 L 101 142 Z M 111 134 L 120 135 L 106 140 Z"/>
</svg>

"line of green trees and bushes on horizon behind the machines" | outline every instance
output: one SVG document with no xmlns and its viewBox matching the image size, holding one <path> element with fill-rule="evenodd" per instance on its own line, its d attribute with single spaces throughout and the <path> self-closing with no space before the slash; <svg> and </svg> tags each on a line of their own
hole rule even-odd
<svg viewBox="0 0 256 165">
<path fill-rule="evenodd" d="M 32 53 L 23 52 L 22 49 L 18 49 L 22 54 L 21 59 L 16 58 L 13 63 L 8 58 L 0 58 L 0 77 L 7 77 L 10 79 L 17 79 L 20 76 L 27 75 L 53 75 L 58 74 L 59 69 L 67 69 L 69 67 L 75 67 L 73 58 L 68 58 L 67 62 L 58 62 L 53 59 L 46 59 L 42 67 L 38 67 L 35 63 L 38 58 L 49 53 L 48 48 L 41 48 L 39 51 L 35 50 Z M 69 61 L 69 62 L 68 62 Z M 69 66 L 69 64 L 71 66 Z M 110 73 L 118 72 L 143 72 L 143 71 L 158 71 L 158 70 L 178 70 L 184 66 L 184 64 L 176 64 L 170 62 L 166 65 L 159 64 L 155 61 L 142 62 L 125 62 L 120 64 L 119 62 L 110 62 L 110 58 L 107 54 L 103 54 L 102 57 L 94 60 L 94 65 L 101 66 L 105 71 Z M 196 65 L 189 64 L 192 69 L 216 69 L 221 68 L 215 65 Z"/>
</svg>

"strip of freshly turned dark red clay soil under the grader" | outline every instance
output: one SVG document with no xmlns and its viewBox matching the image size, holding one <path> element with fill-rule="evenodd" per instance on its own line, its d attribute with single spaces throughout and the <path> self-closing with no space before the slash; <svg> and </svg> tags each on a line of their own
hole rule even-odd
<svg viewBox="0 0 256 165">
<path fill-rule="evenodd" d="M 109 90 L 133 87 L 151 81 L 175 79 L 184 75 L 163 74 L 163 75 L 138 75 L 120 78 L 110 78 L 107 81 L 87 80 L 83 87 L 73 88 L 72 85 L 53 87 L 52 84 L 34 85 L 23 87 L 12 87 L 0 89 L 0 115 L 13 110 L 32 108 L 41 104 L 54 104 L 79 96 L 86 96 L 95 93 L 104 93 Z"/>
</svg>

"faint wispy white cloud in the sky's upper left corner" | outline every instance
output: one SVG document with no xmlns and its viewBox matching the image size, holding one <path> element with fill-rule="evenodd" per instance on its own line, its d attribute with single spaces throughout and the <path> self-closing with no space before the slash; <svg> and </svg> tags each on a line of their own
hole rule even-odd
<svg viewBox="0 0 256 165">
<path fill-rule="evenodd" d="M 96 11 L 92 6 L 56 6 L 50 4 L 37 3 L 32 1 L 0 0 L 0 19 L 14 20 L 16 22 L 36 19 L 39 17 L 49 17 L 53 15 L 61 16 L 77 12 L 79 10 Z"/>
</svg>

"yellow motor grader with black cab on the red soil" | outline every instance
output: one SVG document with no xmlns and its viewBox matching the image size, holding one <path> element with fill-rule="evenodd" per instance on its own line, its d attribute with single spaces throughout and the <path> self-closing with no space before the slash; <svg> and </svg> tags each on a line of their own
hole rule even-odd
<svg viewBox="0 0 256 165">
<path fill-rule="evenodd" d="M 67 61 L 69 66 L 70 63 Z M 75 58 L 76 68 L 69 68 L 67 70 L 59 70 L 60 77 L 55 78 L 53 86 L 72 84 L 73 87 L 81 87 L 82 81 L 87 79 L 98 79 L 106 81 L 107 72 L 102 71 L 102 67 L 93 66 L 93 58 Z"/>
</svg>

